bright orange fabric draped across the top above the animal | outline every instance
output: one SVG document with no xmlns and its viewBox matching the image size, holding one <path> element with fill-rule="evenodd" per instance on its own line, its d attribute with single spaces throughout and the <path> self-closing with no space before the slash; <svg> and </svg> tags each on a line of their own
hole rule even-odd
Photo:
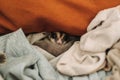
<svg viewBox="0 0 120 80">
<path fill-rule="evenodd" d="M 0 33 L 65 31 L 82 35 L 98 11 L 120 0 L 0 0 Z"/>
</svg>

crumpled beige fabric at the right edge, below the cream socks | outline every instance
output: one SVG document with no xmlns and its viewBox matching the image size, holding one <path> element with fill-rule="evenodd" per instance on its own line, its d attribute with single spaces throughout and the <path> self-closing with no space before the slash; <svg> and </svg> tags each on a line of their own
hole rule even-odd
<svg viewBox="0 0 120 80">
<path fill-rule="evenodd" d="M 120 41 L 109 51 L 107 60 L 108 66 L 112 68 L 112 75 L 106 80 L 120 80 Z"/>
</svg>

